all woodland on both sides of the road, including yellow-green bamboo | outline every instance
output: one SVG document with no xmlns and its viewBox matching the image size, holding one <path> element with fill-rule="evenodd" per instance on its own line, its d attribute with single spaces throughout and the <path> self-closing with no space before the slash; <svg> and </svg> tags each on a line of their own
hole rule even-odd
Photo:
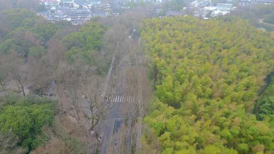
<svg viewBox="0 0 274 154">
<path fill-rule="evenodd" d="M 174 17 L 141 22 L 153 13 L 136 9 L 73 26 L 46 21 L 27 10 L 43 8 L 28 2 L 33 5 L 0 1 L 1 154 L 86 153 L 86 132 L 108 113 L 108 102 L 98 96 L 114 55 L 126 68 L 125 94 L 143 97 L 121 109 L 130 131 L 150 103 L 147 65 L 154 82 L 140 153 L 274 153 L 273 79 L 260 93 L 274 69 L 274 38 L 252 26 L 260 18 L 272 23 L 272 6 L 234 14 L 251 21 Z M 185 4 L 174 0 L 163 9 Z M 139 27 L 142 39 L 138 33 L 128 39 Z M 45 98 L 52 82 L 57 101 Z M 83 99 L 91 116 L 82 111 Z M 92 121 L 89 128 L 87 121 Z M 119 154 L 127 152 L 122 146 Z"/>
</svg>

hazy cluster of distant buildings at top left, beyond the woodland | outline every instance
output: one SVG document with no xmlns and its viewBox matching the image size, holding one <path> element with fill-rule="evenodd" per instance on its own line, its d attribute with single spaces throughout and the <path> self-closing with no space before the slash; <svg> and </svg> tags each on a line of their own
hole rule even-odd
<svg viewBox="0 0 274 154">
<path fill-rule="evenodd" d="M 45 5 L 46 11 L 39 12 L 47 20 L 56 22 L 67 20 L 72 24 L 82 24 L 92 17 L 107 17 L 110 15 L 119 15 L 116 11 L 127 9 L 127 3 L 140 3 L 140 0 L 40 0 Z M 146 0 L 155 4 L 161 4 L 166 0 Z M 113 7 L 115 5 L 116 9 Z"/>
</svg>

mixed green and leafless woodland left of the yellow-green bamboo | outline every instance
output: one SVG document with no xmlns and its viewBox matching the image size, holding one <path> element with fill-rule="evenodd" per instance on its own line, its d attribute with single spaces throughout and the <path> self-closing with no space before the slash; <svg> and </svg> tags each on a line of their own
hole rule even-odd
<svg viewBox="0 0 274 154">
<path fill-rule="evenodd" d="M 0 142 L 5 143 L 0 153 L 98 152 L 98 132 L 90 133 L 105 120 L 111 106 L 100 101 L 106 74 L 115 55 L 134 66 L 132 71 L 138 75 L 131 78 L 147 80 L 135 68 L 141 49 L 138 39 L 128 36 L 151 13 L 136 8 L 119 17 L 71 25 L 14 8 L 0 12 Z M 134 107 L 138 110 L 123 108 L 125 115 L 134 113 L 131 127 L 141 108 Z"/>
</svg>

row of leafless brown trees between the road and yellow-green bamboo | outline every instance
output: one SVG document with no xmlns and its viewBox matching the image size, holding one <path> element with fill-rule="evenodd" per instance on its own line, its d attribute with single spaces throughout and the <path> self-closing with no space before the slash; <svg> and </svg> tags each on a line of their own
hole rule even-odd
<svg viewBox="0 0 274 154">
<path fill-rule="evenodd" d="M 126 56 L 123 59 L 128 62 L 123 94 L 134 99 L 126 102 L 122 110 L 125 112 L 125 122 L 128 123 L 130 134 L 134 138 L 133 145 L 136 144 L 136 150 L 141 148 L 142 117 L 152 96 L 152 83 L 148 80 L 146 66 L 149 59 L 140 46 L 141 40 L 130 41 L 124 50 Z"/>
</svg>

